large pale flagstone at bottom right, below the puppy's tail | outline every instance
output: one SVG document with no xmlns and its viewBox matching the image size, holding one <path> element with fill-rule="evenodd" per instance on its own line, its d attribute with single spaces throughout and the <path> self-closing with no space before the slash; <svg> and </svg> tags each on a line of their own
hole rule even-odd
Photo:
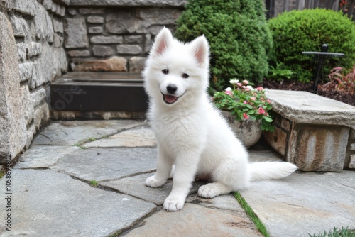
<svg viewBox="0 0 355 237">
<path fill-rule="evenodd" d="M 355 223 L 355 172 L 296 172 L 253 182 L 241 196 L 271 236 L 307 236 Z"/>
</svg>

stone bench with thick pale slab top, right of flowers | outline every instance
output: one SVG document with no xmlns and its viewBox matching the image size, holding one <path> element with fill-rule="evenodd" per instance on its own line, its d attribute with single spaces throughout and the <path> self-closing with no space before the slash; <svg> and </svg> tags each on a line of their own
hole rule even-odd
<svg viewBox="0 0 355 237">
<path fill-rule="evenodd" d="M 275 131 L 264 137 L 286 161 L 304 171 L 339 172 L 344 163 L 355 167 L 354 106 L 310 92 L 267 90 L 266 96 Z"/>
</svg>

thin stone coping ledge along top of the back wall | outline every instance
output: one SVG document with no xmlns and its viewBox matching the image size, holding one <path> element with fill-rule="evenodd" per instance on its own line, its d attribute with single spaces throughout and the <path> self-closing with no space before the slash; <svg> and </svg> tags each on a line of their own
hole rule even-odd
<svg viewBox="0 0 355 237">
<path fill-rule="evenodd" d="M 70 6 L 185 6 L 185 0 L 71 0 Z"/>
</svg>

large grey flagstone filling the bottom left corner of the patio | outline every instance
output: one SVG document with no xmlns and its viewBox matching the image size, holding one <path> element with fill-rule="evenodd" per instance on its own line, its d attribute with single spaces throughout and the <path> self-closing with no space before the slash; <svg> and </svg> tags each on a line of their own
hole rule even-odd
<svg viewBox="0 0 355 237">
<path fill-rule="evenodd" d="M 156 208 L 53 170 L 11 171 L 11 232 L 1 225 L 0 236 L 110 236 Z M 4 180 L 1 187 L 5 187 Z M 4 217 L 6 202 L 0 205 Z"/>
</svg>

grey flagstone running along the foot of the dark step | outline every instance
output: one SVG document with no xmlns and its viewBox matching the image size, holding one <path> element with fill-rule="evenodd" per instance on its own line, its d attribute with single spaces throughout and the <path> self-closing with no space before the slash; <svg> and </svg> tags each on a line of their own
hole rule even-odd
<svg viewBox="0 0 355 237">
<path fill-rule="evenodd" d="M 89 139 L 110 136 L 145 124 L 133 120 L 53 122 L 33 140 L 34 145 L 75 145 Z"/>
</svg>

